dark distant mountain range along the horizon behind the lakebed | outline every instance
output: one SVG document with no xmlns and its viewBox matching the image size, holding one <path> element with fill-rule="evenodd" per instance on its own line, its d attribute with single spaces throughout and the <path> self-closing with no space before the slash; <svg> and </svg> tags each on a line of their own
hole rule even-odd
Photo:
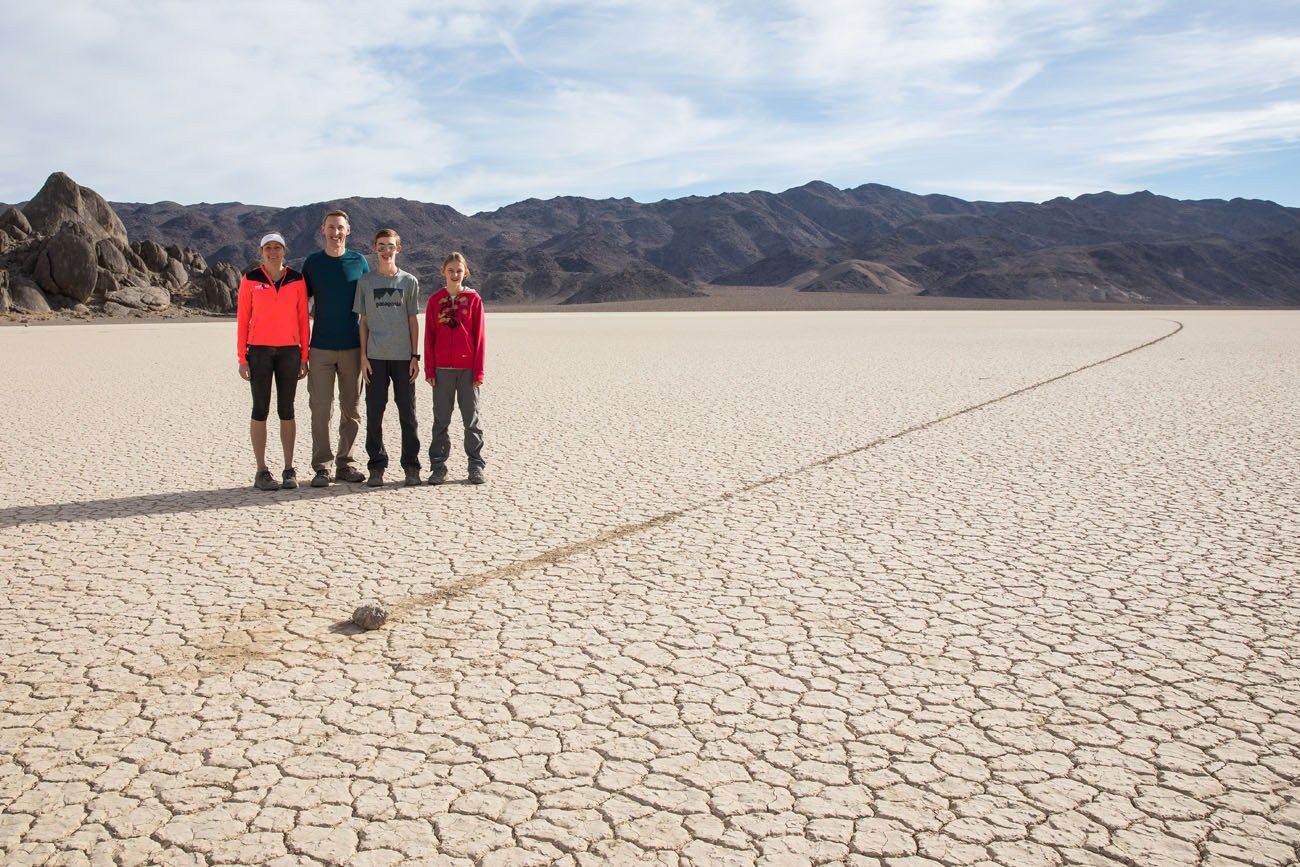
<svg viewBox="0 0 1300 867">
<path fill-rule="evenodd" d="M 708 283 L 820 292 L 1195 304 L 1300 304 L 1300 209 L 1100 192 L 1041 204 L 965 201 L 880 185 L 819 181 L 642 204 L 528 199 L 462 214 L 406 199 L 294 208 L 114 203 L 133 238 L 247 264 L 256 238 L 285 233 L 291 259 L 320 247 L 321 216 L 352 217 L 352 246 L 403 235 L 403 265 L 426 283 L 464 251 L 485 296 L 589 303 L 672 298 Z"/>
</svg>

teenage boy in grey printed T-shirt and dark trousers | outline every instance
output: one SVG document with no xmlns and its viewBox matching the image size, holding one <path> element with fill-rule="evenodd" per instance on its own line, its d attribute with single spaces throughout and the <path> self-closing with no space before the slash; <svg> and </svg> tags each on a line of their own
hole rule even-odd
<svg viewBox="0 0 1300 867">
<path fill-rule="evenodd" d="M 365 382 L 367 485 L 384 485 L 389 452 L 384 448 L 384 409 L 398 404 L 402 424 L 402 469 L 406 484 L 419 485 L 420 435 L 415 420 L 415 383 L 420 378 L 420 282 L 398 268 L 402 238 L 393 229 L 374 234 L 377 265 L 356 281 L 354 309 L 361 317 L 361 380 Z"/>
</svg>

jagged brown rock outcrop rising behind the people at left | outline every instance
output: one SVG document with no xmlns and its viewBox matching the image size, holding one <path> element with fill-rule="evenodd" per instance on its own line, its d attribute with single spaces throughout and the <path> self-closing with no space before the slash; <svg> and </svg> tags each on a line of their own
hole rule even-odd
<svg viewBox="0 0 1300 867">
<path fill-rule="evenodd" d="M 0 213 L 0 313 L 230 313 L 239 274 L 196 250 L 131 243 L 113 208 L 66 174 Z"/>
</svg>

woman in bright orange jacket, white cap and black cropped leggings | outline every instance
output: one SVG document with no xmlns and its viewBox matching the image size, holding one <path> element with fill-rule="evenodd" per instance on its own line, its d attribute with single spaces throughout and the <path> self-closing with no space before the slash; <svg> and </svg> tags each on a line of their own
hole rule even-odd
<svg viewBox="0 0 1300 867">
<path fill-rule="evenodd" d="M 248 437 L 257 459 L 257 490 L 298 487 L 294 469 L 294 395 L 307 376 L 307 282 L 285 265 L 285 237 L 273 231 L 261 239 L 261 264 L 239 281 L 239 331 L 235 351 L 239 376 L 252 383 L 252 421 Z M 280 446 L 285 472 L 277 482 L 266 469 L 266 416 L 270 413 L 270 382 L 276 381 L 280 415 Z"/>
</svg>

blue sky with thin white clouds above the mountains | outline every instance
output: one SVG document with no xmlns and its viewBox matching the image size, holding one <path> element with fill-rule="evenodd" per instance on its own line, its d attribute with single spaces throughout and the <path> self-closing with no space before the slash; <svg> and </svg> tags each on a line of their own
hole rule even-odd
<svg viewBox="0 0 1300 867">
<path fill-rule="evenodd" d="M 1300 3 L 5 4 L 0 201 L 884 183 L 1300 207 Z"/>
</svg>

